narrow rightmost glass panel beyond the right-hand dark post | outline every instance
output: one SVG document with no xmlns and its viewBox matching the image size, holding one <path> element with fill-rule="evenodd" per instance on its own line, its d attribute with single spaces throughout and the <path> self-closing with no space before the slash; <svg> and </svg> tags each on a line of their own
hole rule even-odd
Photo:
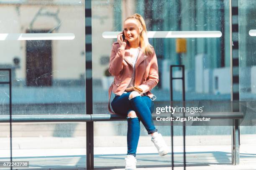
<svg viewBox="0 0 256 170">
<path fill-rule="evenodd" d="M 238 1 L 239 97 L 244 119 L 240 126 L 240 162 L 251 165 L 256 160 L 256 1 Z M 236 24 L 236 23 L 235 23 Z"/>
</svg>

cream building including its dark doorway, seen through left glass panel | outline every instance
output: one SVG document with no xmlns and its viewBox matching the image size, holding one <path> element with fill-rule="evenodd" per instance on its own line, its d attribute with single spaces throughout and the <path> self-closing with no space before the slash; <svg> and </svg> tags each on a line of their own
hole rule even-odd
<svg viewBox="0 0 256 170">
<path fill-rule="evenodd" d="M 0 65 L 13 65 L 14 85 L 84 85 L 84 6 L 81 3 L 84 2 L 5 0 L 0 3 L 0 15 L 8 16 L 1 18 L 1 33 L 75 35 L 74 40 L 1 41 Z M 15 58 L 18 67 L 14 67 Z"/>
</svg>

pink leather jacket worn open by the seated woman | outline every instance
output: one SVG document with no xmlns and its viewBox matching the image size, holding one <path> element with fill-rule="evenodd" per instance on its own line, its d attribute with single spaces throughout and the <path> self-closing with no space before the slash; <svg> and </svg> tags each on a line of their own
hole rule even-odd
<svg viewBox="0 0 256 170">
<path fill-rule="evenodd" d="M 127 86 L 131 81 L 133 74 L 133 66 L 130 62 L 130 53 L 127 50 L 121 50 L 118 42 L 114 42 L 110 54 L 109 72 L 115 76 L 114 82 L 109 87 L 108 95 L 108 109 L 111 113 L 114 113 L 110 109 L 110 95 L 113 91 L 116 95 L 122 95 Z M 154 95 L 150 92 L 157 83 L 159 82 L 158 76 L 158 65 L 156 60 L 156 53 L 153 48 L 153 53 L 145 55 L 142 50 L 139 51 L 138 59 L 136 62 L 136 75 L 135 75 L 135 86 L 143 90 L 143 95 L 153 97 Z"/>
</svg>

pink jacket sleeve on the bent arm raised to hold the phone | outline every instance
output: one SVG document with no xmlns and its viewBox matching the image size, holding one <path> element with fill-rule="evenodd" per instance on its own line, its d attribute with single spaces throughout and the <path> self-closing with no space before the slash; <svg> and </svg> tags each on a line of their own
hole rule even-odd
<svg viewBox="0 0 256 170">
<path fill-rule="evenodd" d="M 108 71 L 111 75 L 117 76 L 123 69 L 123 57 L 125 54 L 125 50 L 121 50 L 120 48 L 115 50 L 115 45 L 112 46 L 112 50 L 110 53 L 110 62 Z"/>
</svg>

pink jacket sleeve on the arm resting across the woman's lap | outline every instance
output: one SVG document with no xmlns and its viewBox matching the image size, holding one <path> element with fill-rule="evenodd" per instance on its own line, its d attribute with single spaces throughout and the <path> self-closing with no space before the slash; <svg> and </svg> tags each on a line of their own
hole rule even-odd
<svg viewBox="0 0 256 170">
<path fill-rule="evenodd" d="M 148 78 L 146 82 L 139 85 L 138 87 L 143 90 L 143 93 L 145 93 L 153 89 L 158 82 L 159 82 L 158 65 L 157 65 L 156 53 L 154 51 L 153 57 L 151 60 Z"/>
</svg>

